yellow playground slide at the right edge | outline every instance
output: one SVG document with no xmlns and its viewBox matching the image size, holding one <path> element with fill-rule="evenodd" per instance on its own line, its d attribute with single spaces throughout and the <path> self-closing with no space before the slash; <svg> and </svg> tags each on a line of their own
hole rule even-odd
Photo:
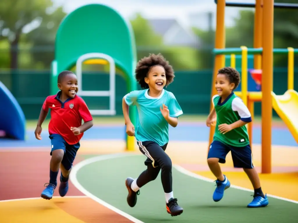
<svg viewBox="0 0 298 223">
<path fill-rule="evenodd" d="M 295 90 L 287 90 L 283 95 L 276 95 L 274 92 L 271 92 L 271 95 L 273 109 L 298 143 L 298 93 Z"/>
</svg>

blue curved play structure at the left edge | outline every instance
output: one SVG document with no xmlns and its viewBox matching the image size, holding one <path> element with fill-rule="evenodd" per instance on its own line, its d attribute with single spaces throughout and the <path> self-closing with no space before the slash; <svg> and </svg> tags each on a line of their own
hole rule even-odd
<svg viewBox="0 0 298 223">
<path fill-rule="evenodd" d="M 8 138 L 25 139 L 26 119 L 21 106 L 15 97 L 0 81 L 0 130 L 5 131 Z"/>
</svg>

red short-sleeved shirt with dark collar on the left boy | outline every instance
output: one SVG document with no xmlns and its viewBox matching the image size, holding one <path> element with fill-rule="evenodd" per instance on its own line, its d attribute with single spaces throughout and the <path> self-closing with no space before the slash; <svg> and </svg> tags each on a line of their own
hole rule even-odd
<svg viewBox="0 0 298 223">
<path fill-rule="evenodd" d="M 82 125 L 82 120 L 91 121 L 92 116 L 83 98 L 75 95 L 74 98 L 69 98 L 63 103 L 59 99 L 60 94 L 58 92 L 57 95 L 48 96 L 42 109 L 44 111 L 51 109 L 49 134 L 59 134 L 69 145 L 74 145 L 80 141 L 83 133 L 75 136 L 70 127 L 79 127 Z"/>
</svg>

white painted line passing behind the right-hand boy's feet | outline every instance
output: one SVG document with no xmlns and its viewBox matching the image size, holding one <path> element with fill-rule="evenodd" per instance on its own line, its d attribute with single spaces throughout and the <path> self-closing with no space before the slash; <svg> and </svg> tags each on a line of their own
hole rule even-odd
<svg viewBox="0 0 298 223">
<path fill-rule="evenodd" d="M 181 173 L 183 173 L 187 176 L 190 176 L 192 178 L 196 178 L 196 179 L 199 179 L 199 180 L 204 180 L 204 181 L 211 182 L 211 183 L 214 182 L 214 180 L 212 180 L 210 178 L 206 178 L 206 177 L 203 177 L 201 175 L 195 174 L 191 171 L 188 171 L 187 169 L 184 169 L 183 167 L 181 167 L 179 165 L 173 165 L 173 167 L 175 167 L 175 169 L 177 169 L 179 172 L 181 172 Z M 250 190 L 250 189 L 247 189 L 247 188 L 244 188 L 244 187 L 235 186 L 235 185 L 232 185 L 232 184 L 231 184 L 231 187 L 235 188 L 235 189 L 238 189 L 238 190 L 242 190 L 242 191 L 254 192 L 253 190 Z M 273 198 L 278 199 L 278 200 L 284 200 L 284 201 L 288 201 L 288 202 L 298 204 L 298 201 L 287 199 L 287 198 L 284 198 L 284 197 L 278 197 L 278 196 L 271 195 L 271 194 L 267 194 L 267 197 L 273 197 Z"/>
</svg>

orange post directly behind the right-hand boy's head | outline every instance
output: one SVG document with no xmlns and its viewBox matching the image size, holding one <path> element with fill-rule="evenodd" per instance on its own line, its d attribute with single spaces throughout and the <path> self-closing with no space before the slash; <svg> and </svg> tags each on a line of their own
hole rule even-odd
<svg viewBox="0 0 298 223">
<path fill-rule="evenodd" d="M 226 1 L 225 0 L 218 0 L 217 1 L 217 8 L 216 8 L 216 31 L 215 31 L 215 48 L 222 49 L 225 48 L 226 45 L 226 34 L 225 34 L 225 25 L 224 25 L 224 13 L 225 13 Z M 225 66 L 225 56 L 224 55 L 216 55 L 215 56 L 215 63 L 214 63 L 214 70 L 213 70 L 213 78 L 212 78 L 212 85 L 211 85 L 211 99 L 213 95 L 216 94 L 214 83 L 217 72 L 220 68 Z M 212 101 L 210 100 L 210 112 L 213 108 Z M 213 134 L 215 131 L 215 126 L 210 127 L 210 134 L 209 134 L 209 145 L 213 140 Z M 209 148 L 209 147 L 208 147 Z"/>
</svg>

